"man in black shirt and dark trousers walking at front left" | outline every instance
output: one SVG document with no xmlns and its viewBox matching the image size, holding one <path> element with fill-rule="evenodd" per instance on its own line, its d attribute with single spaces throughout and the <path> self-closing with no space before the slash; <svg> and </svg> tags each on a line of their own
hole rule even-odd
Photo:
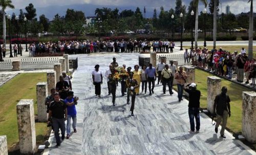
<svg viewBox="0 0 256 155">
<path fill-rule="evenodd" d="M 65 117 L 64 117 L 65 115 Z M 60 146 L 59 128 L 61 131 L 61 139 L 65 138 L 65 120 L 67 120 L 67 105 L 63 99 L 60 99 L 59 93 L 54 94 L 54 100 L 50 104 L 48 121 L 52 120 L 54 136 L 56 139 L 56 147 Z"/>
</svg>

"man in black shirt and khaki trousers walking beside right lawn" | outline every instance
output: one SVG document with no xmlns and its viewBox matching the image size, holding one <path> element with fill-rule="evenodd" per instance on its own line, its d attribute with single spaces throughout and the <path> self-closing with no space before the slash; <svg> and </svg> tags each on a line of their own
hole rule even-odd
<svg viewBox="0 0 256 155">
<path fill-rule="evenodd" d="M 217 113 L 217 122 L 215 126 L 215 132 L 218 133 L 218 127 L 222 121 L 221 137 L 226 138 L 224 131 L 227 124 L 227 117 L 231 116 L 230 112 L 230 98 L 227 93 L 227 87 L 222 87 L 221 94 L 217 95 L 214 100 L 214 115 Z"/>
</svg>

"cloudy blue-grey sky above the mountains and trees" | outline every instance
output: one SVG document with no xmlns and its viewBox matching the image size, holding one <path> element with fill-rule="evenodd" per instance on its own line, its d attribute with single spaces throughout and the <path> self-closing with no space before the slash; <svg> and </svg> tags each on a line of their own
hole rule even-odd
<svg viewBox="0 0 256 155">
<path fill-rule="evenodd" d="M 191 0 L 183 0 L 183 3 L 188 6 L 190 1 Z M 220 3 L 222 4 L 222 12 L 225 13 L 226 6 L 229 5 L 230 12 L 234 14 L 248 12 L 250 10 L 250 4 L 247 2 L 248 0 L 220 0 Z M 94 4 L 105 5 L 106 7 L 117 6 L 117 8 L 121 6 L 133 6 L 140 7 L 141 10 L 143 10 L 144 6 L 149 10 L 153 10 L 154 8 L 159 10 L 161 6 L 163 6 L 165 10 L 175 8 L 175 0 L 12 0 L 12 4 L 15 6 L 15 9 L 24 9 L 29 3 L 32 3 L 35 8 L 47 7 L 51 5 L 63 6 L 73 4 Z M 199 11 L 203 8 L 204 6 L 200 2 Z M 221 6 L 219 6 L 219 8 L 221 11 Z M 254 12 L 256 12 L 255 9 L 256 5 L 254 3 Z M 10 9 L 7 9 L 7 11 L 8 10 Z"/>
</svg>

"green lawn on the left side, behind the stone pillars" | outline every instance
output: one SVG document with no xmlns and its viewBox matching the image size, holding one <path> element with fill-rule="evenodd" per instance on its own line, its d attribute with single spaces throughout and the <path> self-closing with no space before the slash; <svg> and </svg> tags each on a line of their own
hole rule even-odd
<svg viewBox="0 0 256 155">
<path fill-rule="evenodd" d="M 16 105 L 20 99 L 34 99 L 37 114 L 36 84 L 45 82 L 46 73 L 22 73 L 0 88 L 0 135 L 7 135 L 8 148 L 18 142 Z M 47 134 L 46 123 L 35 123 L 36 142 L 42 142 Z"/>
</svg>

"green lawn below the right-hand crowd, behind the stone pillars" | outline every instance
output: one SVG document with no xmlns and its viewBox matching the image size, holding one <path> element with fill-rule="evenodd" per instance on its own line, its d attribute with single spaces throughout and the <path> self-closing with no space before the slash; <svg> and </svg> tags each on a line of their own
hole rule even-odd
<svg viewBox="0 0 256 155">
<path fill-rule="evenodd" d="M 212 74 L 196 69 L 196 83 L 197 89 L 201 91 L 200 105 L 201 108 L 207 108 L 207 76 Z M 242 131 L 242 92 L 252 91 L 246 87 L 222 79 L 221 86 L 226 86 L 228 89 L 227 94 L 230 97 L 231 117 L 228 118 L 227 127 L 233 132 Z"/>
</svg>

